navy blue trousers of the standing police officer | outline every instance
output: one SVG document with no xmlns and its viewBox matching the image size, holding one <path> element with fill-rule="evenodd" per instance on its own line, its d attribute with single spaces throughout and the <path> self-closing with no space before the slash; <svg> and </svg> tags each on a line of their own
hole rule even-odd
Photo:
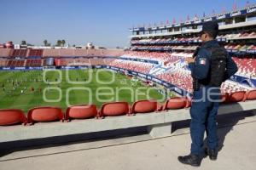
<svg viewBox="0 0 256 170">
<path fill-rule="evenodd" d="M 194 92 L 190 108 L 191 154 L 203 156 L 204 133 L 207 132 L 207 145 L 211 150 L 218 149 L 217 122 L 220 89 L 201 87 Z"/>
</svg>

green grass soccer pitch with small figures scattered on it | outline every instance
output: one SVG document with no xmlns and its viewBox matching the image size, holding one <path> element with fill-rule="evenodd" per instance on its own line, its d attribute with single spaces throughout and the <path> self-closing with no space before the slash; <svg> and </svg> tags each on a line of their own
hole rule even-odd
<svg viewBox="0 0 256 170">
<path fill-rule="evenodd" d="M 32 90 L 33 88 L 33 90 Z M 163 89 L 163 88 L 161 88 Z M 168 94 L 172 97 L 172 94 Z M 143 82 L 107 70 L 0 71 L 0 109 L 95 104 L 156 99 L 165 95 Z"/>
</svg>

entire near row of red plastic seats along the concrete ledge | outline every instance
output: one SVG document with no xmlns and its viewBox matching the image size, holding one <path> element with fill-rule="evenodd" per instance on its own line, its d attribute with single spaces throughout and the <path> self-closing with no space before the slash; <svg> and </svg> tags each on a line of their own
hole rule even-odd
<svg viewBox="0 0 256 170">
<path fill-rule="evenodd" d="M 222 96 L 223 103 L 246 102 L 256 99 L 256 90 L 248 92 L 237 91 L 225 93 Z M 56 122 L 72 119 L 103 118 L 106 116 L 129 116 L 136 114 L 154 113 L 156 111 L 179 110 L 190 107 L 190 100 L 185 97 L 175 97 L 168 99 L 165 104 L 160 105 L 155 100 L 139 100 L 129 105 L 127 102 L 113 102 L 102 104 L 101 109 L 96 105 L 73 105 L 67 108 L 65 115 L 58 107 L 37 107 L 28 111 L 27 116 L 21 110 L 9 109 L 0 110 L 0 126 L 27 123 L 32 125 L 36 122 Z M 172 112 L 172 111 L 171 111 Z"/>
</svg>

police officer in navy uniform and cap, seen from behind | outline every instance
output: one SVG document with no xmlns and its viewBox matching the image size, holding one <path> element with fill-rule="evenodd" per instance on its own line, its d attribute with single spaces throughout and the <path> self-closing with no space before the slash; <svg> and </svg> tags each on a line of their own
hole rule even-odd
<svg viewBox="0 0 256 170">
<path fill-rule="evenodd" d="M 234 60 L 215 40 L 217 36 L 218 23 L 204 23 L 201 31 L 201 48 L 196 51 L 194 58 L 185 59 L 191 70 L 194 88 L 192 106 L 190 108 L 192 144 L 189 156 L 178 156 L 178 161 L 195 167 L 201 165 L 201 160 L 205 154 L 212 161 L 217 160 L 218 136 L 216 116 L 221 98 L 221 83 L 219 83 L 219 79 L 224 82 L 237 71 Z M 219 60 L 216 60 L 216 58 Z M 224 69 L 221 69 L 222 65 L 224 65 Z M 207 149 L 203 149 L 205 131 L 207 132 Z"/>
</svg>

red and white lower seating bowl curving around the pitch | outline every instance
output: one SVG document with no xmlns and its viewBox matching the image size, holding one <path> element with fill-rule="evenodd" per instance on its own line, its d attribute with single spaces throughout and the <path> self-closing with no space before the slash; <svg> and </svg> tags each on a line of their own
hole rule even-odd
<svg viewBox="0 0 256 170">
<path fill-rule="evenodd" d="M 178 41 L 183 41 L 182 39 L 177 39 Z M 153 42 L 158 42 L 152 40 Z M 192 40 L 189 40 L 192 41 Z M 175 45 L 173 48 L 181 48 L 181 45 Z M 227 47 L 228 48 L 228 47 Z M 239 48 L 239 47 L 237 47 Z M 129 71 L 137 71 L 143 74 L 153 74 L 154 77 L 170 82 L 178 88 L 193 92 L 192 89 L 192 77 L 191 72 L 186 66 L 184 59 L 186 57 L 192 56 L 192 53 L 185 52 L 172 52 L 172 53 L 159 53 L 159 52 L 139 52 L 139 51 L 124 51 L 107 50 L 107 49 L 15 49 L 7 50 L 0 49 L 0 54 L 8 54 L 12 52 L 12 57 L 26 57 L 28 52 L 28 57 L 33 56 L 49 56 L 55 58 L 56 66 L 67 66 L 67 65 L 109 65 L 113 67 L 119 67 Z M 119 59 L 117 56 L 119 54 L 122 58 Z M 74 56 L 76 58 L 74 58 Z M 102 57 L 106 56 L 106 57 Z M 114 58 L 108 58 L 107 56 L 115 56 Z M 66 57 L 66 58 L 62 58 Z M 68 58 L 67 58 L 68 57 Z M 73 58 L 72 58 L 73 57 Z M 99 57 L 99 58 L 98 58 Z M 135 61 L 134 59 L 138 59 Z M 152 64 L 146 61 L 140 61 L 139 59 L 146 60 L 156 60 L 159 61 L 161 69 L 158 70 L 157 64 Z M 244 57 L 244 58 L 233 58 L 239 67 L 238 75 L 242 77 L 256 77 L 256 59 Z M 0 59 L 0 66 L 9 67 L 39 67 L 47 65 L 46 59 Z M 155 70 L 155 71 L 154 71 Z M 222 93 L 234 93 L 237 91 L 250 91 L 253 88 L 249 88 L 246 85 L 242 85 L 238 82 L 226 81 L 222 85 Z"/>
</svg>

